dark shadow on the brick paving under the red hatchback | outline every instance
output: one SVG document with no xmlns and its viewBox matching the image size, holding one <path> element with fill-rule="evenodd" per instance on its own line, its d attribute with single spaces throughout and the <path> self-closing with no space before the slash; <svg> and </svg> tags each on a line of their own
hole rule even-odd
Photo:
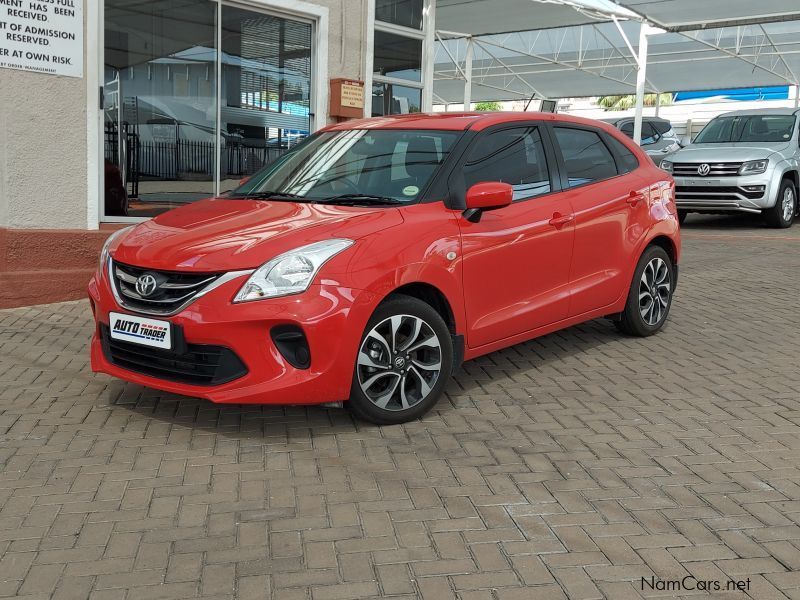
<svg viewBox="0 0 800 600">
<path fill-rule="evenodd" d="M 509 385 L 535 389 L 536 375 L 551 380 L 576 368 L 577 357 L 615 340 L 630 339 L 605 319 L 583 323 L 534 340 L 481 356 L 464 363 L 453 374 L 445 396 L 423 421 L 458 411 L 465 402 L 501 394 L 508 398 Z M 306 437 L 376 429 L 354 419 L 344 408 L 320 405 L 215 404 L 202 398 L 179 396 L 110 380 L 107 402 L 143 419 L 201 429 L 237 439 Z M 531 396 L 532 397 L 532 396 Z"/>
</svg>

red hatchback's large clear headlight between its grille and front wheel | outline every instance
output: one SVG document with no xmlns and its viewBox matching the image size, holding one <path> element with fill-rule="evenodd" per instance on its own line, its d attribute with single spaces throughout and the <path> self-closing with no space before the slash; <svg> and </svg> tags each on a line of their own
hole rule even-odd
<svg viewBox="0 0 800 600">
<path fill-rule="evenodd" d="M 352 245 L 353 240 L 325 240 L 281 254 L 256 269 L 233 301 L 249 302 L 304 292 L 322 265 Z"/>
</svg>

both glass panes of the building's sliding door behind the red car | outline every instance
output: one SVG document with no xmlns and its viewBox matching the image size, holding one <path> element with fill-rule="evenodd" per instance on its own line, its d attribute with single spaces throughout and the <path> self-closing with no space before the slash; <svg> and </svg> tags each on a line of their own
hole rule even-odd
<svg viewBox="0 0 800 600">
<path fill-rule="evenodd" d="M 311 130 L 311 22 L 105 0 L 106 220 L 237 186 Z"/>
</svg>

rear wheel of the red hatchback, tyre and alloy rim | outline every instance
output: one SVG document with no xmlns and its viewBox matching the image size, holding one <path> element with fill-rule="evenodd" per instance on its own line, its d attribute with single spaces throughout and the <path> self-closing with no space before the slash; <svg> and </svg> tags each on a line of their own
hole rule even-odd
<svg viewBox="0 0 800 600">
<path fill-rule="evenodd" d="M 648 247 L 636 266 L 625 310 L 615 321 L 617 328 L 639 337 L 660 330 L 672 306 L 674 282 L 672 259 L 663 248 Z"/>
</svg>

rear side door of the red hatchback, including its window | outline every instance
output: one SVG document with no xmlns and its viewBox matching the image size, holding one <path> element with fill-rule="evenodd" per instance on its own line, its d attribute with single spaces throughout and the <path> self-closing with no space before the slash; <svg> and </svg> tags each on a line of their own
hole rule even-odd
<svg viewBox="0 0 800 600">
<path fill-rule="evenodd" d="M 649 190 L 637 175 L 638 159 L 605 132 L 556 123 L 553 137 L 563 195 L 575 214 L 569 314 L 577 316 L 627 291 L 631 255 L 646 231 Z"/>
</svg>

